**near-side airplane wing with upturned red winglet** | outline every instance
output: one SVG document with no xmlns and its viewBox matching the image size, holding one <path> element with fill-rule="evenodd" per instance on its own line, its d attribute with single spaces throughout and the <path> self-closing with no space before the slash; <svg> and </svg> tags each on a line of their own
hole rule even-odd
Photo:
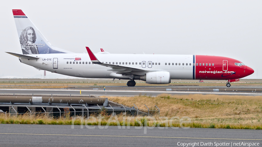
<svg viewBox="0 0 262 147">
<path fill-rule="evenodd" d="M 113 72 L 116 72 L 116 73 L 119 73 L 119 74 L 129 74 L 130 72 L 145 72 L 145 71 L 147 71 L 147 70 L 137 69 L 137 68 L 132 68 L 132 67 L 125 67 L 125 66 L 119 66 L 119 65 L 114 65 L 114 64 L 102 63 L 95 57 L 95 55 L 89 49 L 89 47 L 86 47 L 86 50 L 89 54 L 91 61 L 94 64 L 99 64 L 99 65 L 102 65 L 102 66 L 111 67 L 111 69 L 107 69 L 108 71 L 113 71 Z"/>
</svg>

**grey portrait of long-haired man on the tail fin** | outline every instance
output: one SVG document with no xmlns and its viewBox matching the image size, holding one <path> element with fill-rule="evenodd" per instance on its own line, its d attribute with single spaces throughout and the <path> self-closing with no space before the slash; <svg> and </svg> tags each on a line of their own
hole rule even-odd
<svg viewBox="0 0 262 147">
<path fill-rule="evenodd" d="M 36 32 L 29 26 L 20 35 L 20 44 L 23 54 L 39 54 L 36 42 Z"/>
</svg>

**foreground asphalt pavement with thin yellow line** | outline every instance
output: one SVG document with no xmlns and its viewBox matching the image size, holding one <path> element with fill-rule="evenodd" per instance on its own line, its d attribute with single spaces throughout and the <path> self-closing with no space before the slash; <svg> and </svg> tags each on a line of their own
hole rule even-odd
<svg viewBox="0 0 262 147">
<path fill-rule="evenodd" d="M 118 128 L 88 129 L 71 125 L 0 124 L 1 146 L 183 146 L 181 143 L 262 144 L 261 130 L 205 128 Z M 100 126 L 103 127 L 103 126 Z M 73 128 L 73 129 L 72 129 Z M 146 130 L 146 134 L 145 134 Z M 202 142 L 202 143 L 201 143 Z M 206 144 L 208 146 L 208 144 Z"/>
</svg>

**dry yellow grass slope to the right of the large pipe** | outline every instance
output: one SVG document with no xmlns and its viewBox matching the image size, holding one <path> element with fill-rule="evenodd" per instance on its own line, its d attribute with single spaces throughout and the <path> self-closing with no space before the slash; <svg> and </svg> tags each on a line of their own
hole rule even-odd
<svg viewBox="0 0 262 147">
<path fill-rule="evenodd" d="M 157 97 L 108 97 L 109 100 L 146 110 L 160 109 L 160 116 L 188 116 L 192 123 L 262 126 L 262 96 L 167 95 Z"/>
</svg>

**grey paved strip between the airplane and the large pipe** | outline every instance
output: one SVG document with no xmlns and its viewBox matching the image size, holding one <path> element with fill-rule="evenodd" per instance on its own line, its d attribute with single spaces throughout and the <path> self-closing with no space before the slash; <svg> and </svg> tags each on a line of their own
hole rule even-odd
<svg viewBox="0 0 262 147">
<path fill-rule="evenodd" d="M 217 94 L 217 95 L 246 95 L 246 96 L 261 96 L 262 92 L 197 92 L 197 91 L 167 91 L 167 90 L 109 90 L 106 89 L 92 89 L 92 90 L 83 90 L 83 89 L 0 89 L 2 94 L 91 94 L 95 96 L 157 96 L 159 94 Z"/>
</svg>

